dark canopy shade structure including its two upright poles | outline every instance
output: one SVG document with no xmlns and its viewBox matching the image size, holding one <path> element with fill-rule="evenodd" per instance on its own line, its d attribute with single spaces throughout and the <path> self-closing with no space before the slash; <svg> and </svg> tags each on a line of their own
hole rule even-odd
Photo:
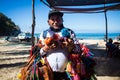
<svg viewBox="0 0 120 80">
<path fill-rule="evenodd" d="M 63 13 L 104 13 L 106 26 L 106 42 L 108 40 L 108 26 L 106 12 L 120 10 L 120 0 L 40 0 L 51 9 Z M 86 7 L 89 6 L 89 7 Z M 91 7 L 92 6 L 92 7 Z M 76 8 L 77 7 L 77 8 Z M 32 46 L 34 45 L 35 13 L 34 0 L 32 0 Z"/>
</svg>

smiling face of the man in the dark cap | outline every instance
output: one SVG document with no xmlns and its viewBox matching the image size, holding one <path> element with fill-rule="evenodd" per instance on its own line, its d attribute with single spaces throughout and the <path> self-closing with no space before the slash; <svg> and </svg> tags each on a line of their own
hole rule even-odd
<svg viewBox="0 0 120 80">
<path fill-rule="evenodd" d="M 60 29 L 61 25 L 63 24 L 63 19 L 58 15 L 53 15 L 48 20 L 48 24 L 54 29 Z"/>
</svg>

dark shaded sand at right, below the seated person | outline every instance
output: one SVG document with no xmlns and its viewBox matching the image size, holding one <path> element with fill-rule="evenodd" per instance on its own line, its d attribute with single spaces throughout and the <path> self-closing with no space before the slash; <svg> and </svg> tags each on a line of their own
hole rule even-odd
<svg viewBox="0 0 120 80">
<path fill-rule="evenodd" d="M 120 76 L 120 57 L 107 57 L 105 49 L 91 49 L 95 54 L 97 76 Z"/>
</svg>

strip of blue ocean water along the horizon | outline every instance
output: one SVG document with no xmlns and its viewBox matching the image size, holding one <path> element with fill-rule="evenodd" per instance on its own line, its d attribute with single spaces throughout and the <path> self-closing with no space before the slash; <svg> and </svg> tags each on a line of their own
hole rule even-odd
<svg viewBox="0 0 120 80">
<path fill-rule="evenodd" d="M 39 38 L 40 33 L 35 33 L 35 36 Z M 120 36 L 120 33 L 108 33 L 108 38 L 116 39 Z M 105 33 L 76 33 L 78 39 L 105 39 Z"/>
</svg>

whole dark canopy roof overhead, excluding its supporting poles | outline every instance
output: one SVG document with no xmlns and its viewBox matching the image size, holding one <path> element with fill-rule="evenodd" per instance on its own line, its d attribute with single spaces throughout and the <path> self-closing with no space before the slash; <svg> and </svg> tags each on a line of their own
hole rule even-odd
<svg viewBox="0 0 120 80">
<path fill-rule="evenodd" d="M 104 10 L 120 10 L 120 0 L 41 0 L 41 1 L 52 9 L 64 12 L 65 11 L 103 12 Z M 75 8 L 75 6 L 77 8 Z M 83 8 L 82 6 L 89 7 Z"/>
</svg>

